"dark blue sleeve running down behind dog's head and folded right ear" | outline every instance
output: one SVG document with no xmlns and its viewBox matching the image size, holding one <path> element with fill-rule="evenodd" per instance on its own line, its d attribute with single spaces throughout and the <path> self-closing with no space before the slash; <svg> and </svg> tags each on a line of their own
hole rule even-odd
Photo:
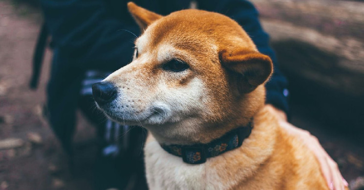
<svg viewBox="0 0 364 190">
<path fill-rule="evenodd" d="M 268 55 L 274 66 L 274 73 L 268 83 L 266 103 L 288 113 L 287 80 L 278 68 L 276 55 L 269 46 L 269 36 L 262 29 L 258 12 L 247 0 L 199 0 L 198 8 L 224 14 L 238 22 L 257 45 L 260 53 Z"/>
</svg>

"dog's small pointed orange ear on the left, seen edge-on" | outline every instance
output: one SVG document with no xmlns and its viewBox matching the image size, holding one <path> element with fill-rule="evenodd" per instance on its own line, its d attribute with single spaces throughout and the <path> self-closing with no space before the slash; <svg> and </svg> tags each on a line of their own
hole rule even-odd
<svg viewBox="0 0 364 190">
<path fill-rule="evenodd" d="M 128 10 L 142 31 L 145 30 L 153 21 L 162 18 L 161 15 L 142 8 L 133 2 L 128 2 Z"/>
</svg>

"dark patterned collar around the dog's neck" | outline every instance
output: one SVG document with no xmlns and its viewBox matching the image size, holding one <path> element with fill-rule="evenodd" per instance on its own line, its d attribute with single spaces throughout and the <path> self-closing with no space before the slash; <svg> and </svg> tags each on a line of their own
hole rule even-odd
<svg viewBox="0 0 364 190">
<path fill-rule="evenodd" d="M 188 164 L 202 164 L 207 158 L 220 155 L 226 151 L 239 148 L 244 139 L 248 138 L 253 128 L 253 119 L 247 126 L 229 131 L 219 139 L 208 144 L 194 145 L 161 145 L 167 152 L 182 157 L 183 162 Z"/>
</svg>

